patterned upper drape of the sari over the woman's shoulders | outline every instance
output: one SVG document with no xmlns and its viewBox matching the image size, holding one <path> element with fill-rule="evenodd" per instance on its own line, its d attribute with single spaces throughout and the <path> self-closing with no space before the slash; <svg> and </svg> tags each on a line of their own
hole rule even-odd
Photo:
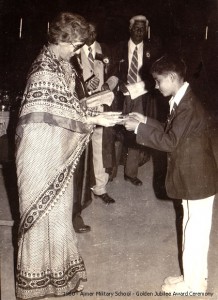
<svg viewBox="0 0 218 300">
<path fill-rule="evenodd" d="M 76 72 L 70 63 L 69 73 L 62 65 L 47 47 L 33 63 L 21 103 L 17 137 L 22 136 L 22 125 L 28 123 L 48 123 L 81 133 L 92 131 L 86 116 L 97 113 L 81 106 L 75 93 Z"/>
</svg>

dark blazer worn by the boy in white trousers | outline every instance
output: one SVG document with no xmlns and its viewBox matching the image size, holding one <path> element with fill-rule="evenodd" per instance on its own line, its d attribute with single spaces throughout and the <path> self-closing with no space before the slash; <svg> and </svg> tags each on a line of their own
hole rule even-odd
<svg viewBox="0 0 218 300">
<path fill-rule="evenodd" d="M 167 126 L 148 118 L 138 127 L 139 144 L 168 153 L 166 190 L 171 198 L 194 200 L 216 193 L 209 119 L 189 87 Z"/>
</svg>

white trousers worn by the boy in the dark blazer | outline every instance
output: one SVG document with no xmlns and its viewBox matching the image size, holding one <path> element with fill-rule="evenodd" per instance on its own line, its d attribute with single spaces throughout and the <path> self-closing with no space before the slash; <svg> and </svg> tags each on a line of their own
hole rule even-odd
<svg viewBox="0 0 218 300">
<path fill-rule="evenodd" d="M 196 292 L 207 288 L 208 250 L 215 195 L 199 200 L 182 200 L 183 275 L 187 286 Z"/>
</svg>

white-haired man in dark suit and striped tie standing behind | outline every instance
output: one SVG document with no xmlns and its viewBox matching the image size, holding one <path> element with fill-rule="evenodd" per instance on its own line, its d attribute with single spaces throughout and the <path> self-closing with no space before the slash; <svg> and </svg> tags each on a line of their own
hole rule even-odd
<svg viewBox="0 0 218 300">
<path fill-rule="evenodd" d="M 129 41 L 119 43 L 114 52 L 114 60 L 117 64 L 116 75 L 121 83 L 120 90 L 125 92 L 126 84 L 143 81 L 148 93 L 134 100 L 130 96 L 123 96 L 122 94 L 119 97 L 118 106 L 124 114 L 139 112 L 156 118 L 157 93 L 154 90 L 154 80 L 149 71 L 152 62 L 160 55 L 160 43 L 151 41 L 148 38 L 145 39 L 148 33 L 148 20 L 145 16 L 134 16 L 130 20 L 129 30 Z M 123 136 L 124 145 L 127 147 L 124 178 L 132 184 L 140 186 L 142 182 L 137 177 L 138 167 L 142 157 L 144 162 L 149 159 L 150 150 L 137 145 L 135 136 L 132 133 L 124 131 Z"/>
</svg>

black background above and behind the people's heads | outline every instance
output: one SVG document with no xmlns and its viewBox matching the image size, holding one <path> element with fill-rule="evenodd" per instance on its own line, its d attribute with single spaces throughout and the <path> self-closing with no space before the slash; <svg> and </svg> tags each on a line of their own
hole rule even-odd
<svg viewBox="0 0 218 300">
<path fill-rule="evenodd" d="M 208 101 L 217 107 L 217 0 L 0 0 L 0 89 L 23 89 L 30 64 L 46 42 L 48 21 L 60 11 L 95 20 L 98 40 L 111 45 L 128 38 L 133 15 L 145 15 L 151 37 L 159 37 L 166 50 L 182 49 L 193 84 L 203 85 Z"/>
</svg>

